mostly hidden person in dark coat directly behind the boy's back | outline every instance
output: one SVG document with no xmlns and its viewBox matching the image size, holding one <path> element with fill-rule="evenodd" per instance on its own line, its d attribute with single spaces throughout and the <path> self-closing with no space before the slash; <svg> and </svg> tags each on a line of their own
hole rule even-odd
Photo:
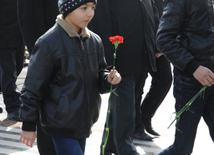
<svg viewBox="0 0 214 155">
<path fill-rule="evenodd" d="M 32 52 L 36 40 L 55 24 L 59 14 L 57 2 L 18 0 L 19 25 L 29 53 Z M 56 154 L 52 138 L 42 131 L 40 122 L 37 123 L 37 147 L 41 155 Z"/>
</svg>

